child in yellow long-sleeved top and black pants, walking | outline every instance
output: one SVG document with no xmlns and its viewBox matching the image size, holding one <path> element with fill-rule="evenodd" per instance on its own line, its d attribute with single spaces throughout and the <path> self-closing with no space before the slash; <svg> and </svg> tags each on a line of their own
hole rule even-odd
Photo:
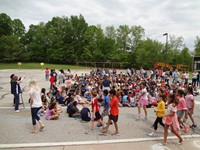
<svg viewBox="0 0 200 150">
<path fill-rule="evenodd" d="M 156 131 L 158 129 L 158 123 L 163 127 L 165 126 L 164 123 L 162 122 L 163 115 L 165 114 L 165 102 L 163 101 L 164 98 L 165 98 L 164 95 L 161 94 L 158 95 L 158 106 L 157 108 L 154 109 L 157 118 L 153 124 L 154 131 L 150 133 L 149 136 L 156 135 Z"/>
</svg>

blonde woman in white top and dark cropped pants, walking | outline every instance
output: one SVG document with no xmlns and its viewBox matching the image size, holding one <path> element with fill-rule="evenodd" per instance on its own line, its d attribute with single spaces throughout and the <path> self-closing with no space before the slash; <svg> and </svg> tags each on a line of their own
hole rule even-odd
<svg viewBox="0 0 200 150">
<path fill-rule="evenodd" d="M 31 116 L 33 129 L 32 133 L 36 133 L 36 120 L 39 122 L 40 130 L 42 130 L 45 125 L 40 120 L 40 117 L 37 115 L 38 111 L 42 108 L 42 100 L 40 96 L 40 88 L 37 86 L 35 80 L 29 81 L 29 95 L 30 95 L 30 106 L 31 106 Z"/>
</svg>

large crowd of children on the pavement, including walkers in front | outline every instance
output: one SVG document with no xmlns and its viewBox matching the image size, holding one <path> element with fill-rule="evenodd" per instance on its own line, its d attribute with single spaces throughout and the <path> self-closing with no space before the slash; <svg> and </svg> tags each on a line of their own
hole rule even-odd
<svg viewBox="0 0 200 150">
<path fill-rule="evenodd" d="M 113 121 L 114 134 L 119 135 L 118 107 L 137 107 L 136 120 L 142 118 L 141 107 L 144 110 L 145 120 L 148 120 L 147 108 L 155 107 L 154 131 L 149 135 L 156 134 L 159 123 L 164 127 L 163 144 L 166 144 L 169 126 L 179 138 L 180 143 L 182 143 L 180 128 L 184 128 L 185 132 L 189 130 L 188 125 L 185 124 L 188 116 L 193 123 L 190 127 L 197 126 L 192 114 L 194 113 L 193 90 L 197 89 L 197 84 L 194 82 L 198 82 L 192 80 L 191 84 L 188 83 L 186 72 L 182 73 L 181 80 L 178 70 L 172 73 L 152 70 L 149 76 L 145 70 L 141 69 L 137 72 L 133 68 L 127 69 L 126 73 L 117 73 L 116 69 L 92 69 L 90 74 L 81 76 L 73 76 L 70 70 L 67 73 L 63 70 L 60 70 L 58 74 L 55 70 L 49 71 L 48 75 L 47 73 L 48 71 L 45 70 L 45 79 L 49 75 L 50 90 L 48 93 L 45 93 L 45 89 L 41 91 L 47 120 L 58 119 L 62 112 L 61 105 L 63 105 L 67 106 L 66 112 L 69 117 L 80 117 L 84 121 L 91 121 L 91 131 L 94 128 L 94 122 L 98 121 L 98 126 L 103 126 L 102 132 L 106 133 Z M 77 107 L 78 104 L 83 106 L 82 110 Z M 91 111 L 88 105 L 91 105 Z M 103 106 L 102 113 L 99 105 Z M 165 108 L 167 108 L 166 114 Z M 104 116 L 108 116 L 106 125 L 103 123 Z"/>
</svg>

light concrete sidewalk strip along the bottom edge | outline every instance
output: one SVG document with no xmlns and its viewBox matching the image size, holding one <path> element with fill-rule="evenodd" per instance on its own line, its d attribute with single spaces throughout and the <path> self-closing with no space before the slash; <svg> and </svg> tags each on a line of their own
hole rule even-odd
<svg viewBox="0 0 200 150">
<path fill-rule="evenodd" d="M 184 143 L 182 145 L 178 145 L 177 140 L 168 140 L 167 146 L 161 146 L 160 140 L 148 140 L 148 141 L 138 141 L 138 142 L 123 142 L 123 143 L 109 143 L 104 144 L 96 143 L 96 144 L 81 144 L 79 145 L 60 145 L 53 146 L 53 144 L 49 144 L 49 146 L 43 147 L 30 147 L 30 145 L 26 148 L 6 148 L 6 150 L 199 150 L 200 149 L 200 139 L 199 138 L 184 138 Z M 64 143 L 63 143 L 64 144 Z M 68 143 L 70 144 L 70 143 Z"/>
</svg>

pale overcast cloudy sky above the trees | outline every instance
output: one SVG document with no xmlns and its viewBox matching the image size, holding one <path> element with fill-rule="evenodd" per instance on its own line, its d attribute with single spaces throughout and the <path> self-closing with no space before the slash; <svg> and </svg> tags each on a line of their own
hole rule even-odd
<svg viewBox="0 0 200 150">
<path fill-rule="evenodd" d="M 194 49 L 200 36 L 200 0 L 0 0 L 0 13 L 29 25 L 53 17 L 83 15 L 89 25 L 140 25 L 145 38 L 165 43 L 166 36 L 182 36 Z"/>
</svg>

